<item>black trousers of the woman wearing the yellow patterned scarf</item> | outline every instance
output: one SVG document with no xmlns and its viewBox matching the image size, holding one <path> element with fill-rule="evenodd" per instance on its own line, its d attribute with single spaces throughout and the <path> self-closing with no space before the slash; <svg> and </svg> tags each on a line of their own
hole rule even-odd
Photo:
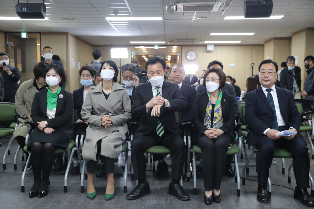
<svg viewBox="0 0 314 209">
<path fill-rule="evenodd" d="M 202 134 L 197 139 L 197 145 L 202 150 L 202 167 L 205 191 L 219 190 L 221 178 L 225 171 L 228 146 L 231 137 L 227 134 L 210 139 Z"/>
</svg>

